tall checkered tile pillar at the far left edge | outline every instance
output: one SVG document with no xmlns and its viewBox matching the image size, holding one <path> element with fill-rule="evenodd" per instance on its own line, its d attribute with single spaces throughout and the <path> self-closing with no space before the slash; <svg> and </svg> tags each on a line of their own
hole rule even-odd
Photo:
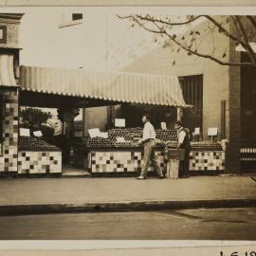
<svg viewBox="0 0 256 256">
<path fill-rule="evenodd" d="M 5 104 L 3 121 L 4 141 L 1 145 L 0 172 L 17 172 L 18 160 L 18 91 L 0 88 Z"/>
</svg>

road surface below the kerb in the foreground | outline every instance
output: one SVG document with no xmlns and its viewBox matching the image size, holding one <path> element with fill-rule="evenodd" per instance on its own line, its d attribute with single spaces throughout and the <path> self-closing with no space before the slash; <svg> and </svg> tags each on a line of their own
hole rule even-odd
<svg viewBox="0 0 256 256">
<path fill-rule="evenodd" d="M 1 216 L 0 239 L 256 240 L 256 208 Z"/>
</svg>

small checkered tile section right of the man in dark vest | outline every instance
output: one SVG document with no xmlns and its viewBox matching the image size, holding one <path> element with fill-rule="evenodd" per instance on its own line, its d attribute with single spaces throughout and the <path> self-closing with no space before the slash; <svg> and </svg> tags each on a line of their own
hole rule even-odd
<svg viewBox="0 0 256 256">
<path fill-rule="evenodd" d="M 225 152 L 191 152 L 190 171 L 223 171 L 225 170 Z"/>
</svg>

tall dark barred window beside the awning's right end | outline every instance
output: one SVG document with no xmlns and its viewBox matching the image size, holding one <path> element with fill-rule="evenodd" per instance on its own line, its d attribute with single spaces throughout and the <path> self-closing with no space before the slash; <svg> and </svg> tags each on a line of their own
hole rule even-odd
<svg viewBox="0 0 256 256">
<path fill-rule="evenodd" d="M 179 77 L 184 101 L 192 108 L 184 109 L 183 123 L 193 132 L 195 127 L 203 131 L 203 75 Z"/>
</svg>

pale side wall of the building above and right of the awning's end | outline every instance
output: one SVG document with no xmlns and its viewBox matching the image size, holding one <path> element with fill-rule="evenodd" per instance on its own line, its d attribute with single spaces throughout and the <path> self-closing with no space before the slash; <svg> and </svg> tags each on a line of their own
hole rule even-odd
<svg viewBox="0 0 256 256">
<path fill-rule="evenodd" d="M 208 23 L 197 27 L 203 31 Z M 203 32 L 201 32 L 203 33 Z M 198 51 L 221 58 L 226 51 L 224 61 L 229 60 L 229 39 L 219 33 L 211 33 L 198 47 Z M 175 64 L 174 64 L 175 62 Z M 150 73 L 167 76 L 203 75 L 203 135 L 207 138 L 207 130 L 217 127 L 221 130 L 221 101 L 227 102 L 226 136 L 229 138 L 229 66 L 216 64 L 208 59 L 188 56 L 182 49 L 177 52 L 171 47 L 155 49 L 152 53 L 140 58 L 124 71 Z"/>
</svg>

